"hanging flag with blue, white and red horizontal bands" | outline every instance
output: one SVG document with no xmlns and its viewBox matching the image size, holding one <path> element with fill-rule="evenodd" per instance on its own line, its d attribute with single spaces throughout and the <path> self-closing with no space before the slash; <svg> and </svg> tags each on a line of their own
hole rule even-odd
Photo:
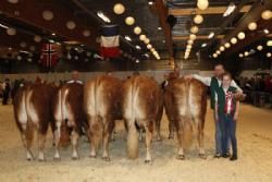
<svg viewBox="0 0 272 182">
<path fill-rule="evenodd" d="M 118 25 L 104 25 L 102 27 L 100 53 L 104 58 L 119 57 Z"/>
</svg>

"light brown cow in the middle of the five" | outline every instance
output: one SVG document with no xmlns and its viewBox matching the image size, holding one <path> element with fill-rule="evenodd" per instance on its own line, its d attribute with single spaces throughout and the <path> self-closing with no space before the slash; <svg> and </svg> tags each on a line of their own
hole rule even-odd
<svg viewBox="0 0 272 182">
<path fill-rule="evenodd" d="M 90 138 L 90 157 L 97 156 L 102 141 L 102 158 L 110 160 L 109 142 L 114 129 L 114 117 L 121 110 L 122 82 L 111 75 L 96 76 L 84 88 L 84 110 L 86 112 Z"/>
</svg>

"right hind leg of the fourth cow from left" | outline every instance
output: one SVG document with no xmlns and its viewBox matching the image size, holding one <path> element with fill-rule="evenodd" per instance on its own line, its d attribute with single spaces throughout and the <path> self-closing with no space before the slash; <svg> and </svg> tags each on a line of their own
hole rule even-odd
<svg viewBox="0 0 272 182">
<path fill-rule="evenodd" d="M 145 122 L 145 129 L 146 129 L 146 163 L 151 162 L 151 141 L 152 141 L 152 134 L 153 134 L 153 122 Z"/>
</svg>

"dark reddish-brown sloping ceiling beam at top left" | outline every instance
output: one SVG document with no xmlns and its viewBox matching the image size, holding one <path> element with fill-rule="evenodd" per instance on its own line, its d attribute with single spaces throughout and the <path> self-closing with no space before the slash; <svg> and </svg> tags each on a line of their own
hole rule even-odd
<svg viewBox="0 0 272 182">
<path fill-rule="evenodd" d="M 45 10 L 53 12 L 53 19 L 51 21 L 45 21 L 42 19 L 42 12 Z M 67 40 L 79 41 L 91 49 L 99 48 L 96 43 L 96 38 L 99 35 L 96 23 L 87 24 L 85 20 L 75 16 L 71 10 L 65 8 L 65 5 L 61 4 L 59 1 L 24 0 L 18 1 L 16 4 L 9 3 L 8 1 L 0 1 L 0 11 L 10 17 L 16 19 L 28 25 L 55 33 Z M 67 29 L 67 21 L 74 21 L 76 23 L 75 29 Z M 84 29 L 89 29 L 91 35 L 89 37 L 84 37 Z"/>
</svg>

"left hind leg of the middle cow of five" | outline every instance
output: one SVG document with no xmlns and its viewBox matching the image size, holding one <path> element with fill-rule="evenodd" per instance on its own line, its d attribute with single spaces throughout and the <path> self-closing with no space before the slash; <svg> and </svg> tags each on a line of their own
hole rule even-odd
<svg viewBox="0 0 272 182">
<path fill-rule="evenodd" d="M 89 135 L 90 135 L 90 154 L 89 157 L 97 156 L 97 149 L 102 134 L 102 125 L 99 122 L 98 117 L 94 117 L 89 122 Z"/>
</svg>

